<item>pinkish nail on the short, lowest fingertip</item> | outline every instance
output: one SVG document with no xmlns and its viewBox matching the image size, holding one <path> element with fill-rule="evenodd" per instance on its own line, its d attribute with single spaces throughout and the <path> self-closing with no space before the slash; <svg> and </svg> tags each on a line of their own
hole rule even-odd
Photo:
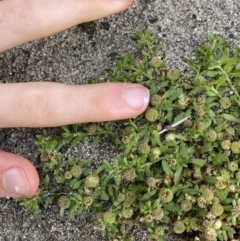
<svg viewBox="0 0 240 241">
<path fill-rule="evenodd" d="M 29 183 L 25 172 L 18 167 L 12 167 L 3 173 L 3 186 L 9 196 L 20 197 L 29 194 Z"/>
</svg>

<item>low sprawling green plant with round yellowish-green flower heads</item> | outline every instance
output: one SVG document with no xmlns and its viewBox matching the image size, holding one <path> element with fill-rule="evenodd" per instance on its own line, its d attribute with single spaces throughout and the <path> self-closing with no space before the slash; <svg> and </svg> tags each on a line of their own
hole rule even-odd
<svg viewBox="0 0 240 241">
<path fill-rule="evenodd" d="M 231 240 L 240 224 L 240 51 L 211 34 L 181 77 L 164 66 L 162 44 L 150 31 L 134 39 L 139 52 L 119 57 L 107 73 L 110 81 L 149 88 L 147 111 L 119 122 L 122 128 L 90 123 L 64 126 L 57 138 L 38 135 L 40 189 L 19 203 L 39 211 L 40 202 L 56 200 L 60 214 L 70 217 L 92 210 L 98 213 L 95 229 L 119 240 L 130 240 L 136 221 L 152 240 L 164 240 L 167 232 Z M 92 170 L 87 160 L 63 159 L 63 145 L 88 136 L 93 146 L 101 136 L 114 140 L 115 160 Z"/>
</svg>

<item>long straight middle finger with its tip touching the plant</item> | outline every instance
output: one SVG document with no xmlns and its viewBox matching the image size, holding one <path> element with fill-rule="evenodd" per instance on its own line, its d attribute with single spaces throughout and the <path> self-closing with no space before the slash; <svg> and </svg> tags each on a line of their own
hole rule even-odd
<svg viewBox="0 0 240 241">
<path fill-rule="evenodd" d="M 149 91 L 138 84 L 0 84 L 0 127 L 51 127 L 136 117 Z"/>
</svg>

